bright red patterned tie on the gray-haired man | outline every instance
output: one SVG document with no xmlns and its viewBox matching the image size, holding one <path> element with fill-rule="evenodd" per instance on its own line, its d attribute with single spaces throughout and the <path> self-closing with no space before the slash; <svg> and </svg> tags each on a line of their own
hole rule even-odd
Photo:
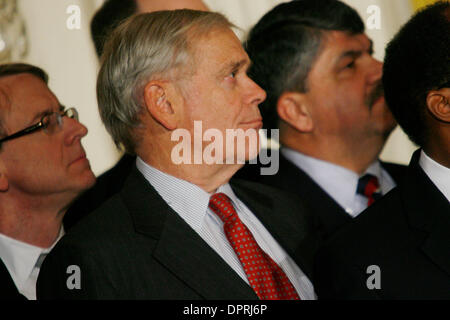
<svg viewBox="0 0 450 320">
<path fill-rule="evenodd" d="M 286 274 L 256 243 L 228 196 L 214 194 L 209 200 L 209 207 L 223 221 L 227 239 L 258 297 L 261 300 L 299 300 Z"/>
</svg>

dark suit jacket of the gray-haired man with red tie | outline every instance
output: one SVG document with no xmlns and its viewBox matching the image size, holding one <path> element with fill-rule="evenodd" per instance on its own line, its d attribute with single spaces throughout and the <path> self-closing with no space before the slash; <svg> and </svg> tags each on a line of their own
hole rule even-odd
<svg viewBox="0 0 450 320">
<path fill-rule="evenodd" d="M 306 273 L 307 212 L 277 190 L 233 181 L 236 195 Z M 69 265 L 81 289 L 68 290 Z M 257 299 L 253 290 L 134 168 L 123 189 L 70 230 L 44 261 L 39 299 Z"/>
</svg>

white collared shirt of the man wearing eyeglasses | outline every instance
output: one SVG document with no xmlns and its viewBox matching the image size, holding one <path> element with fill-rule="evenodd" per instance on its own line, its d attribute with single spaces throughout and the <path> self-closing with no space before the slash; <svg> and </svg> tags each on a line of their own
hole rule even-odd
<svg viewBox="0 0 450 320">
<path fill-rule="evenodd" d="M 63 235 L 64 228 L 61 227 L 53 245 L 40 248 L 0 233 L 0 258 L 17 290 L 27 299 L 36 300 L 36 281 L 42 262 Z"/>
</svg>

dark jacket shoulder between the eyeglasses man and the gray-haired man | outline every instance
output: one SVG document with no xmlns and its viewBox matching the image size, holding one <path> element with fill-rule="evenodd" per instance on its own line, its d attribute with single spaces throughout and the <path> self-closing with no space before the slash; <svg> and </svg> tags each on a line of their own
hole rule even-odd
<svg viewBox="0 0 450 320">
<path fill-rule="evenodd" d="M 135 156 L 125 154 L 111 169 L 101 174 L 95 185 L 75 200 L 67 210 L 64 216 L 66 229 L 75 225 L 88 213 L 100 207 L 103 202 L 119 192 L 135 163 Z"/>
</svg>

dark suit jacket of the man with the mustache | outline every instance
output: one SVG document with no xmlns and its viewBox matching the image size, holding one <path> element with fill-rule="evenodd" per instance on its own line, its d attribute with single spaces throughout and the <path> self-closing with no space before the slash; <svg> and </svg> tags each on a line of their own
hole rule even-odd
<svg viewBox="0 0 450 320">
<path fill-rule="evenodd" d="M 381 163 L 383 168 L 398 184 L 404 175 L 406 166 Z M 260 175 L 259 165 L 246 165 L 238 177 L 257 181 L 286 192 L 294 193 L 316 215 L 316 231 L 324 241 L 337 230 L 350 223 L 353 218 L 345 212 L 328 193 L 326 193 L 306 172 L 295 166 L 280 154 L 279 170 L 275 175 Z"/>
</svg>

